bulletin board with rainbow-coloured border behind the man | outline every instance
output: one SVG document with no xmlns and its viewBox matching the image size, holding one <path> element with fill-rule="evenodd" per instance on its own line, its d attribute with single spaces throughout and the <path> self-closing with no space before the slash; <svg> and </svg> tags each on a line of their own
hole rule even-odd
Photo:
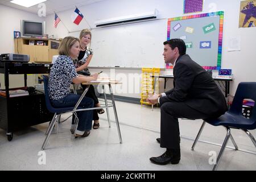
<svg viewBox="0 0 256 182">
<path fill-rule="evenodd" d="M 223 22 L 224 11 L 169 18 L 167 40 L 183 39 L 192 60 L 204 69 L 220 69 Z"/>
</svg>

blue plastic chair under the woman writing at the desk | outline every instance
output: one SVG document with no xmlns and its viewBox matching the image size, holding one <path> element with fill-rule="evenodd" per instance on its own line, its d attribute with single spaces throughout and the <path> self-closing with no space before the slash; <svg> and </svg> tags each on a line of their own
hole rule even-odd
<svg viewBox="0 0 256 182">
<path fill-rule="evenodd" d="M 52 129 L 55 126 L 55 123 L 58 123 L 59 120 L 60 120 L 60 115 L 64 114 L 64 113 L 72 113 L 74 107 L 62 107 L 62 108 L 53 107 L 52 104 L 51 104 L 51 101 L 50 101 L 50 98 L 49 98 L 49 92 L 48 92 L 49 77 L 46 76 L 46 75 L 43 75 L 42 77 L 43 77 L 43 81 L 44 81 L 44 95 L 46 97 L 46 107 L 51 113 L 55 113 L 53 118 L 52 118 L 51 124 L 49 125 L 49 127 L 46 131 L 46 139 L 44 139 L 44 142 L 43 142 L 43 145 L 42 145 L 42 148 L 41 148 L 41 150 L 44 150 L 44 148 L 46 147 L 46 144 L 49 140 L 49 136 L 52 133 Z M 76 113 L 74 113 L 74 114 L 76 116 Z M 78 118 L 76 116 L 75 123 L 77 123 L 77 122 L 78 122 Z"/>
</svg>

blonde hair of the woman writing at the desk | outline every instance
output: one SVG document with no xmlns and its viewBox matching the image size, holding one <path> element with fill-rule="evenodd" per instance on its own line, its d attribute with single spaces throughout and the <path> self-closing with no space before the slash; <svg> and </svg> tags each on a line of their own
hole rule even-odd
<svg viewBox="0 0 256 182">
<path fill-rule="evenodd" d="M 59 55 L 70 56 L 70 49 L 79 39 L 73 36 L 66 36 L 60 43 Z"/>
</svg>

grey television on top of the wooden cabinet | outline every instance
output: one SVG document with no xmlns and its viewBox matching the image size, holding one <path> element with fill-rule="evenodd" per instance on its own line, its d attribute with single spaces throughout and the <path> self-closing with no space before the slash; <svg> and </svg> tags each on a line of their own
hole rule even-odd
<svg viewBox="0 0 256 182">
<path fill-rule="evenodd" d="M 43 22 L 22 20 L 23 36 L 43 36 Z"/>
</svg>

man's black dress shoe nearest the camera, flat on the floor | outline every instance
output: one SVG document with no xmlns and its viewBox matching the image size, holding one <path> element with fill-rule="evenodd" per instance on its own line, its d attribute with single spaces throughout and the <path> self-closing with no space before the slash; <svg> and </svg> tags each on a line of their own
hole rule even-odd
<svg viewBox="0 0 256 182">
<path fill-rule="evenodd" d="M 159 165 L 166 165 L 168 163 L 179 164 L 179 162 L 180 162 L 180 151 L 176 151 L 176 152 L 166 151 L 158 157 L 150 158 L 150 161 L 152 163 L 159 164 Z"/>
</svg>

